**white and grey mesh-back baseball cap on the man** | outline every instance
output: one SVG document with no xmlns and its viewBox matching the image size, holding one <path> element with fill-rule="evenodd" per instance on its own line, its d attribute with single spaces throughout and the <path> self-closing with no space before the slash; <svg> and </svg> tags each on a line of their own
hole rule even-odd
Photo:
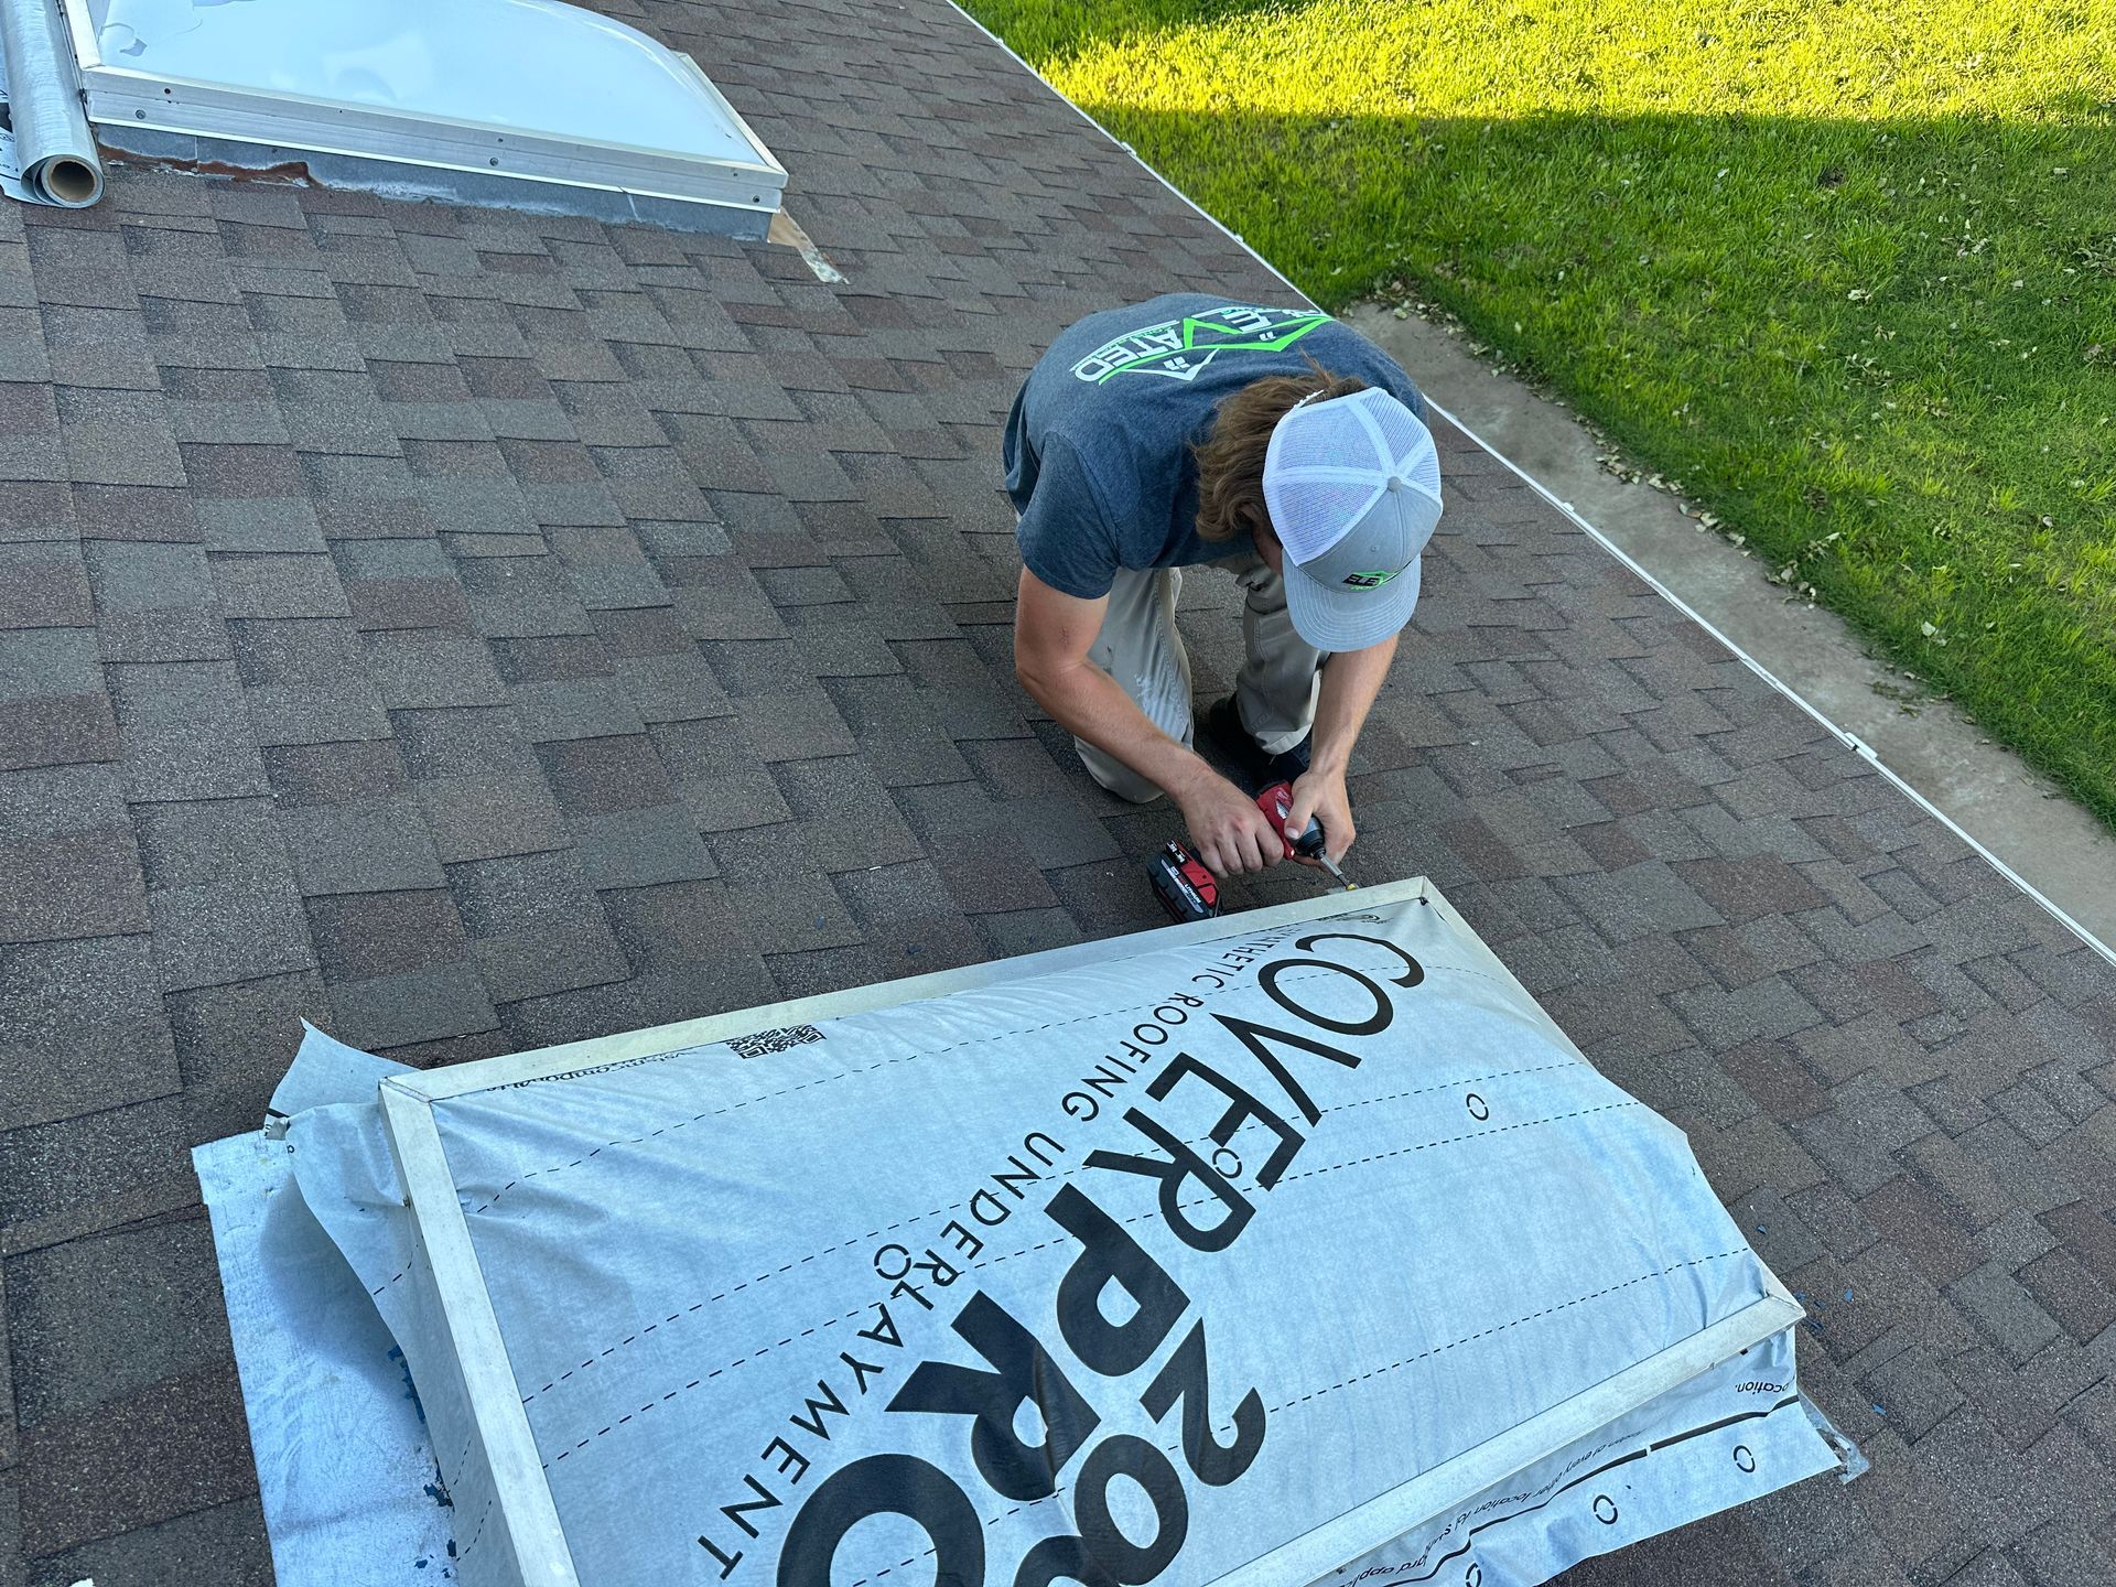
<svg viewBox="0 0 2116 1587">
<path fill-rule="evenodd" d="M 1441 518 L 1433 432 L 1380 387 L 1301 398 L 1272 427 L 1263 506 L 1287 548 L 1287 612 L 1316 650 L 1378 645 L 1411 620 Z"/>
</svg>

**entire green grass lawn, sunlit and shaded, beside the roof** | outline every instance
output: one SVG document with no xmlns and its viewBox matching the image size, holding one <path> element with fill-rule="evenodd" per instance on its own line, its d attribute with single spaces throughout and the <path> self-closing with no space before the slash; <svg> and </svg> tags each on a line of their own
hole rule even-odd
<svg viewBox="0 0 2116 1587">
<path fill-rule="evenodd" d="M 2116 823 L 2116 0 L 971 11 L 1318 303 L 1460 315 Z"/>
</svg>

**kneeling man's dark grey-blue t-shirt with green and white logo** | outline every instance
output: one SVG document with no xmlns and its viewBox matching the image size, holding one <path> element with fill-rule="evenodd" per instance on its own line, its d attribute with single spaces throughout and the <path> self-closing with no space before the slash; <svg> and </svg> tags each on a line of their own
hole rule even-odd
<svg viewBox="0 0 2116 1587">
<path fill-rule="evenodd" d="M 1308 375 L 1310 360 L 1424 417 L 1418 387 L 1388 353 L 1314 309 L 1170 292 L 1064 330 L 1007 417 L 1007 495 L 1028 571 L 1096 601 L 1119 567 L 1187 567 L 1248 550 L 1248 535 L 1198 537 L 1191 446 L 1227 396 L 1267 375 Z"/>
</svg>

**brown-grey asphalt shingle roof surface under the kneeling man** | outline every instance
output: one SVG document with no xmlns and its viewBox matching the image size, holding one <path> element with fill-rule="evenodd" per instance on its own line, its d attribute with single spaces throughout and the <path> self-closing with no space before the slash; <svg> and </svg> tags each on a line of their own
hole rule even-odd
<svg viewBox="0 0 2116 1587">
<path fill-rule="evenodd" d="M 624 15 L 846 286 L 180 174 L 0 205 L 0 1587 L 271 1581 L 186 1151 L 298 1016 L 438 1064 L 1160 918 L 1174 819 L 1014 683 L 997 425 L 1079 313 L 1289 290 L 937 0 Z M 1873 1458 L 1576 1579 L 2116 1581 L 2116 971 L 1441 442 L 1354 870 L 1689 1130 Z"/>
</svg>

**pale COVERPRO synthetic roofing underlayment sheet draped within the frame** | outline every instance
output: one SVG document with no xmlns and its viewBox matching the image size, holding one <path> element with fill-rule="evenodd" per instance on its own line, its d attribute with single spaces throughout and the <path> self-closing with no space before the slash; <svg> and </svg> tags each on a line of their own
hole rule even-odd
<svg viewBox="0 0 2116 1587">
<path fill-rule="evenodd" d="M 1445 908 L 1221 927 L 432 1105 L 582 1583 L 1502 1587 L 1837 1464 L 1682 1134 Z M 290 1141 L 514 1581 L 379 1111 Z"/>
</svg>

